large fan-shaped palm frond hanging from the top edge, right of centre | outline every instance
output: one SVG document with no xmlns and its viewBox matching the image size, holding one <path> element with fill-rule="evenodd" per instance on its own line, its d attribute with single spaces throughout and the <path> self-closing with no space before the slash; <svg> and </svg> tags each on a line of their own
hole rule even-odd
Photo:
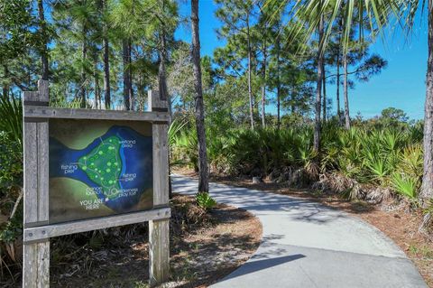
<svg viewBox="0 0 433 288">
<path fill-rule="evenodd" d="M 354 33 L 358 36 L 358 42 L 364 42 L 367 34 L 370 38 L 378 35 L 383 38 L 384 28 L 388 25 L 400 23 L 403 29 L 408 30 L 419 10 L 419 0 L 284 0 L 280 5 L 275 5 L 276 2 L 280 1 L 267 0 L 265 5 L 290 11 L 288 25 L 296 27 L 292 30 L 291 40 L 303 37 L 303 42 L 309 42 L 318 32 L 320 18 L 325 17 L 327 27 L 322 42 L 319 43 L 322 52 L 327 48 L 333 28 L 340 23 L 343 24 L 343 50 L 347 51 Z M 276 14 L 278 13 L 275 12 L 274 15 Z"/>
</svg>

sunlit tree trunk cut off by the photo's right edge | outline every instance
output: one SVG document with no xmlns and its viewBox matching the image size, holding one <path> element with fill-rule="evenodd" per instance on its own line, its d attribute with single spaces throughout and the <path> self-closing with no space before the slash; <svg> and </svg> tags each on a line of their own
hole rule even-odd
<svg viewBox="0 0 433 288">
<path fill-rule="evenodd" d="M 424 107 L 424 173 L 419 198 L 433 199 L 433 0 L 428 0 L 427 92 Z"/>
</svg>

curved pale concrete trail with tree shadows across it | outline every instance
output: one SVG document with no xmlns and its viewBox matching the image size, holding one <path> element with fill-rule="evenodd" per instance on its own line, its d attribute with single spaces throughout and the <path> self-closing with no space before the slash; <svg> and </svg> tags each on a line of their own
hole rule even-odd
<svg viewBox="0 0 433 288">
<path fill-rule="evenodd" d="M 197 181 L 172 176 L 173 190 L 194 195 Z M 253 257 L 212 287 L 427 287 L 391 239 L 364 221 L 319 203 L 259 190 L 210 184 L 219 203 L 260 219 Z"/>
</svg>

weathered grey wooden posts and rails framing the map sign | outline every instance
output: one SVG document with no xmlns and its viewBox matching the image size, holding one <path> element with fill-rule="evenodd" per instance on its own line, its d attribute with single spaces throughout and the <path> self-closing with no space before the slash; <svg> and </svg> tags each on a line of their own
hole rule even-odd
<svg viewBox="0 0 433 288">
<path fill-rule="evenodd" d="M 164 283 L 170 270 L 167 101 L 149 91 L 148 112 L 48 107 L 49 83 L 23 92 L 23 287 L 50 286 L 50 237 L 149 221 L 149 282 Z M 153 209 L 60 224 L 49 220 L 49 119 L 134 120 L 152 123 Z"/>
</svg>

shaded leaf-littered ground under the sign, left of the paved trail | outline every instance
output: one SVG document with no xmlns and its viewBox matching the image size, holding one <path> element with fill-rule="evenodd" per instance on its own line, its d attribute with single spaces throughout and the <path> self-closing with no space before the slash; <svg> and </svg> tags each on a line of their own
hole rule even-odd
<svg viewBox="0 0 433 288">
<path fill-rule="evenodd" d="M 170 207 L 170 283 L 163 287 L 207 287 L 260 245 L 262 225 L 243 209 L 217 205 L 206 212 L 178 194 Z M 147 238 L 147 223 L 55 238 L 51 287 L 148 287 Z M 20 286 L 19 274 L 0 286 Z"/>
</svg>

